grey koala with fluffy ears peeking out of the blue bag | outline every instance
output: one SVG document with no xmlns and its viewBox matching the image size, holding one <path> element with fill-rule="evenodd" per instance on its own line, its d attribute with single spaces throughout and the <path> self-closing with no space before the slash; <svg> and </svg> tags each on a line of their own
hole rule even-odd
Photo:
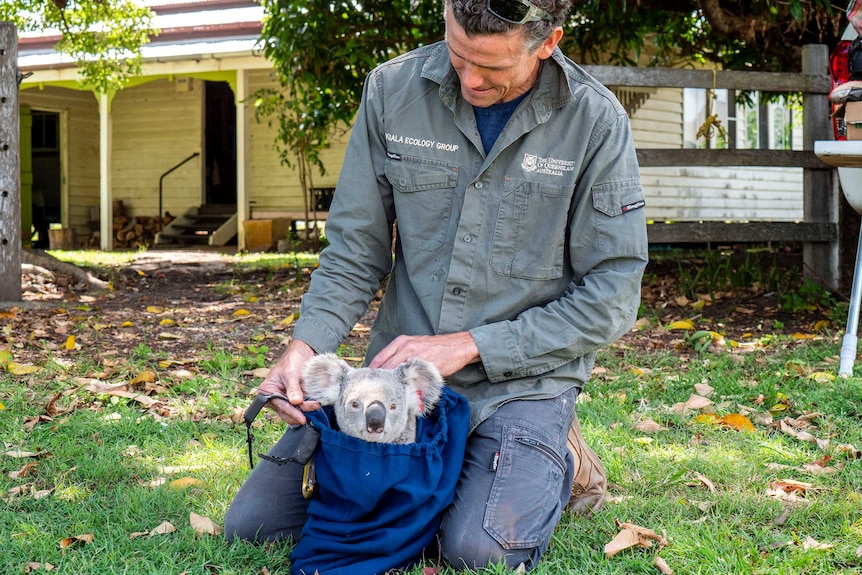
<svg viewBox="0 0 862 575">
<path fill-rule="evenodd" d="M 377 443 L 414 443 L 417 418 L 434 410 L 444 385 L 437 368 L 419 359 L 395 369 L 357 369 L 328 353 L 302 371 L 308 399 L 334 406 L 342 433 Z"/>
</svg>

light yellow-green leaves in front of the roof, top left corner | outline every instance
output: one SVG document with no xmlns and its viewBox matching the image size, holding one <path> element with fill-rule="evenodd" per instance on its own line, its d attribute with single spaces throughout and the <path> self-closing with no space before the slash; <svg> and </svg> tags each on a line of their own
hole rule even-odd
<svg viewBox="0 0 862 575">
<path fill-rule="evenodd" d="M 140 49 L 154 33 L 152 12 L 133 0 L 12 0 L 0 3 L 0 21 L 22 32 L 62 33 L 56 48 L 81 68 L 97 92 L 122 88 L 141 73 Z"/>
</svg>

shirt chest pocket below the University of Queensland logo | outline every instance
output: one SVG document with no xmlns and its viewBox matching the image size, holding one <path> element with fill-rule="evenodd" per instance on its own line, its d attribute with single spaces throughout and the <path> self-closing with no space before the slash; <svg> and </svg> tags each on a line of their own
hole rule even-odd
<svg viewBox="0 0 862 575">
<path fill-rule="evenodd" d="M 571 201 L 564 192 L 563 186 L 506 180 L 491 247 L 495 272 L 531 280 L 562 277 Z"/>
</svg>

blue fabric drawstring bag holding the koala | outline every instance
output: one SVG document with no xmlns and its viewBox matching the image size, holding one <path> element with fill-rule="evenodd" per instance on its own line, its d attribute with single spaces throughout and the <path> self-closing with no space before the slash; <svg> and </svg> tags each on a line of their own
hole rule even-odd
<svg viewBox="0 0 862 575">
<path fill-rule="evenodd" d="M 320 431 L 317 486 L 293 575 L 382 575 L 414 564 L 437 534 L 461 474 L 467 400 L 443 389 L 419 419 L 416 443 L 372 443 L 333 429 L 331 411 L 307 413 Z"/>
</svg>

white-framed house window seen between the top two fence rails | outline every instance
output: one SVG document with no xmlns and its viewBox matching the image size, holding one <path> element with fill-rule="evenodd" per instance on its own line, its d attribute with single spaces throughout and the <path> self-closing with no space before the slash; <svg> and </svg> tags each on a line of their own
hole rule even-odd
<svg viewBox="0 0 862 575">
<path fill-rule="evenodd" d="M 685 88 L 683 114 L 686 148 L 801 149 L 802 106 L 783 98 L 767 101 L 750 92 L 739 99 L 733 90 Z M 707 121 L 712 115 L 718 122 Z"/>
</svg>

